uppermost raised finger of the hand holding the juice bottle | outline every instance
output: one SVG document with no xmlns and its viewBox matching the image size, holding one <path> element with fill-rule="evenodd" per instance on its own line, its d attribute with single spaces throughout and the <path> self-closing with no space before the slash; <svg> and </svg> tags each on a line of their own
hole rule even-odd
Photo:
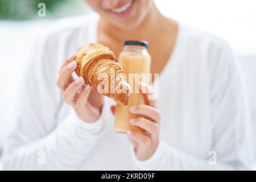
<svg viewBox="0 0 256 182">
<path fill-rule="evenodd" d="M 152 99 L 154 98 L 154 91 L 151 86 L 145 84 L 144 82 L 139 82 L 139 92 L 144 95 L 146 105 L 156 107 L 156 100 Z"/>
</svg>

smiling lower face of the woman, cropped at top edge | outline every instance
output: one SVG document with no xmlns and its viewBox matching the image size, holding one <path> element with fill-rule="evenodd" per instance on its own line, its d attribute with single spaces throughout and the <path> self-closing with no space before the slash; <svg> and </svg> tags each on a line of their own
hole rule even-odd
<svg viewBox="0 0 256 182">
<path fill-rule="evenodd" d="M 102 18 L 131 30 L 138 27 L 154 5 L 154 0 L 85 0 Z"/>
</svg>

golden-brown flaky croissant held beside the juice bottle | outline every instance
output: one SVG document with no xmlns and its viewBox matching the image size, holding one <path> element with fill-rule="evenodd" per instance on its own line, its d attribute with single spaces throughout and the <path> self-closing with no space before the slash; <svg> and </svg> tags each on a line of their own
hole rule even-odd
<svg viewBox="0 0 256 182">
<path fill-rule="evenodd" d="M 105 88 L 105 85 L 103 88 L 101 86 L 104 90 L 102 94 L 112 98 L 118 104 L 128 105 L 131 86 L 125 81 L 122 67 L 108 47 L 99 43 L 82 46 L 76 53 L 76 62 L 76 73 L 84 78 L 86 84 L 98 89 L 98 85 L 104 81 L 104 78 L 99 76 L 105 74 L 108 78 L 108 88 Z M 114 76 L 112 76 L 113 71 Z M 122 90 L 121 93 L 117 92 L 117 86 Z"/>
</svg>

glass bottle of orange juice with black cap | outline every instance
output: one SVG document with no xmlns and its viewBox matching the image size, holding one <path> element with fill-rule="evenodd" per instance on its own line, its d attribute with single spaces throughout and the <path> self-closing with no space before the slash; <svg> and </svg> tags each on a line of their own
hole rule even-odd
<svg viewBox="0 0 256 182">
<path fill-rule="evenodd" d="M 117 104 L 115 108 L 115 131 L 143 131 L 141 128 L 130 124 L 129 119 L 137 118 L 139 115 L 131 113 L 129 108 L 133 105 L 145 104 L 143 94 L 138 93 L 138 82 L 143 81 L 149 84 L 148 73 L 150 73 L 151 68 L 151 57 L 147 48 L 147 42 L 129 40 L 124 43 L 123 51 L 119 55 L 119 63 L 122 65 L 123 73 L 125 73 L 127 82 L 131 86 L 131 95 L 127 106 Z"/>
</svg>

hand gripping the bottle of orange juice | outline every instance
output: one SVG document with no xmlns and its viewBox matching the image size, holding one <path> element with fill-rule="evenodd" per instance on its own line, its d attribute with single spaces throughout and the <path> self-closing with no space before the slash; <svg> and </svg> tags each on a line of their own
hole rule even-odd
<svg viewBox="0 0 256 182">
<path fill-rule="evenodd" d="M 147 105 L 131 106 L 131 113 L 141 115 L 138 118 L 131 118 L 131 125 L 141 127 L 144 132 L 137 133 L 134 131 L 127 131 L 127 135 L 133 143 L 135 155 L 138 160 L 147 160 L 155 152 L 159 143 L 159 123 L 161 114 L 156 109 L 156 100 L 148 100 L 148 96 L 152 94 L 150 86 L 141 82 L 139 85 L 140 92 L 147 90 L 143 93 L 147 98 Z M 112 111 L 114 108 L 112 108 Z"/>
</svg>

